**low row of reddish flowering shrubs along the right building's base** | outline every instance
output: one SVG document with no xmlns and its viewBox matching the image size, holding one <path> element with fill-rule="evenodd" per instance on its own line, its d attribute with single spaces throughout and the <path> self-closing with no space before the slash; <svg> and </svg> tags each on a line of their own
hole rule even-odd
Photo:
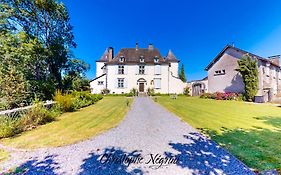
<svg viewBox="0 0 281 175">
<path fill-rule="evenodd" d="M 215 99 L 215 100 L 238 100 L 239 94 L 234 92 L 216 92 L 216 93 L 204 93 L 200 98 Z"/>
</svg>

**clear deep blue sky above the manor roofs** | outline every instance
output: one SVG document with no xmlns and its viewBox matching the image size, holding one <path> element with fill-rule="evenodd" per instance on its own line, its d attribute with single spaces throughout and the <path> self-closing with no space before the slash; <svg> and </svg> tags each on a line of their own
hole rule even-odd
<svg viewBox="0 0 281 175">
<path fill-rule="evenodd" d="M 74 26 L 77 58 L 91 65 L 112 46 L 153 43 L 169 49 L 185 66 L 188 81 L 206 76 L 204 68 L 232 42 L 260 56 L 281 54 L 280 0 L 62 0 Z"/>
</svg>

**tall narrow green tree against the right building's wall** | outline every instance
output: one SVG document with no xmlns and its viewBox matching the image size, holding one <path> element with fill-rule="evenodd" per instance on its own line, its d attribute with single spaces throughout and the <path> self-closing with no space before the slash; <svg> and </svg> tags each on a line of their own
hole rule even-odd
<svg viewBox="0 0 281 175">
<path fill-rule="evenodd" d="M 253 101 L 258 92 L 258 65 L 256 58 L 250 57 L 249 54 L 243 55 L 238 60 L 238 71 L 242 75 L 245 86 L 245 100 Z"/>
</svg>

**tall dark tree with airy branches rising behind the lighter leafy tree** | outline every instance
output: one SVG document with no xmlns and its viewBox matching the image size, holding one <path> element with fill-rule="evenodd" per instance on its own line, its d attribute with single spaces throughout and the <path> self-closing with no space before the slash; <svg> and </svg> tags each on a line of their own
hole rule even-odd
<svg viewBox="0 0 281 175">
<path fill-rule="evenodd" d="M 72 56 L 70 48 L 76 47 L 64 4 L 56 0 L 1 0 L 0 12 L 1 18 L 5 18 L 0 20 L 1 28 L 23 30 L 48 51 L 47 57 L 42 57 L 41 50 L 36 53 L 36 79 L 55 81 L 57 88 L 61 88 L 61 72 Z M 47 72 L 42 70 L 42 64 L 47 65 Z"/>
</svg>

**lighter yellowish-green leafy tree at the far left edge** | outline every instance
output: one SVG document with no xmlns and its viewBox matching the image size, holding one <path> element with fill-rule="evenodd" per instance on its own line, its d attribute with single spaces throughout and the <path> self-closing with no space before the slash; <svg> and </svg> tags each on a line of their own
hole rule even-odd
<svg viewBox="0 0 281 175">
<path fill-rule="evenodd" d="M 22 33 L 0 33 L 0 99 L 7 108 L 24 106 L 31 96 L 25 68 L 32 56 L 25 53 L 33 45 L 25 43 L 23 38 Z"/>
</svg>

